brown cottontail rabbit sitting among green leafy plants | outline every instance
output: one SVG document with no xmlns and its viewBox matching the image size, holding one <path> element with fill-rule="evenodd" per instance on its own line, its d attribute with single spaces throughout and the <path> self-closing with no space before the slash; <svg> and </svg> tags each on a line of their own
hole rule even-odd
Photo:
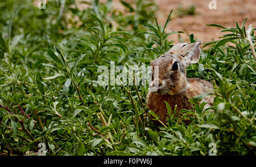
<svg viewBox="0 0 256 167">
<path fill-rule="evenodd" d="M 164 101 L 168 102 L 172 111 L 177 105 L 180 109 L 192 109 L 188 102 L 193 96 L 201 93 L 210 93 L 213 84 L 197 78 L 187 78 L 186 68 L 191 63 L 197 63 L 202 42 L 193 44 L 180 43 L 158 59 L 150 63 L 152 68 L 152 82 L 150 92 L 147 95 L 148 109 L 154 111 L 160 121 L 166 123 L 167 108 Z M 158 72 L 159 71 L 159 72 Z M 154 74 L 156 74 L 154 76 Z M 205 97 L 201 102 L 208 102 L 205 108 L 209 108 L 213 102 L 213 96 Z"/>
</svg>

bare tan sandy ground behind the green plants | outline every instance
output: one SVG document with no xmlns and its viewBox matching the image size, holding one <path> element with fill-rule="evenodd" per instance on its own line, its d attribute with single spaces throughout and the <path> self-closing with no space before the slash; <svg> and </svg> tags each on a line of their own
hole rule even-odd
<svg viewBox="0 0 256 167">
<path fill-rule="evenodd" d="M 35 0 L 38 3 L 39 0 Z M 82 0 L 77 0 L 77 2 Z M 85 1 L 85 0 L 83 0 Z M 90 0 L 87 0 L 90 1 Z M 133 0 L 123 0 L 131 2 Z M 134 0 L 135 1 L 135 0 Z M 164 23 L 168 14 L 172 9 L 174 13 L 180 6 L 188 8 L 191 5 L 195 6 L 195 15 L 175 16 L 171 23 L 168 25 L 166 31 L 183 31 L 187 32 L 181 34 L 184 41 L 189 41 L 189 34 L 193 33 L 195 38 L 199 41 L 207 42 L 217 40 L 218 37 L 224 35 L 220 33 L 221 28 L 209 27 L 205 24 L 220 24 L 224 27 L 230 28 L 238 24 L 242 24 L 245 18 L 246 29 L 249 24 L 256 26 L 256 0 L 215 0 L 216 9 L 210 9 L 209 3 L 212 0 L 155 0 L 159 6 L 156 14 L 160 23 Z M 101 0 L 106 2 L 106 0 Z M 118 10 L 125 10 L 119 0 L 113 0 L 113 8 Z M 86 5 L 79 5 L 81 8 L 86 8 Z M 170 40 L 177 40 L 177 35 L 173 35 Z"/>
</svg>

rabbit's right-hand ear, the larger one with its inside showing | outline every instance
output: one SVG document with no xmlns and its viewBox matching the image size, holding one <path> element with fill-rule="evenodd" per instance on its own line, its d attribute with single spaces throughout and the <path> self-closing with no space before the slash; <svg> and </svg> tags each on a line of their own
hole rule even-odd
<svg viewBox="0 0 256 167">
<path fill-rule="evenodd" d="M 202 42 L 195 42 L 193 44 L 185 45 L 183 48 L 179 50 L 178 53 L 184 57 L 187 65 L 198 62 L 201 53 L 199 45 L 201 43 Z"/>
</svg>

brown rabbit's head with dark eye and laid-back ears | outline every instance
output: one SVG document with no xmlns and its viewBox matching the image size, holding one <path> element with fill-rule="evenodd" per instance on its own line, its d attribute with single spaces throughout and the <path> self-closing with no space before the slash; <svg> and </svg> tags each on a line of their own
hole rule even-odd
<svg viewBox="0 0 256 167">
<path fill-rule="evenodd" d="M 186 68 L 191 63 L 197 63 L 202 42 L 193 44 L 179 43 L 166 53 L 150 63 L 152 82 L 150 92 L 158 95 L 176 95 L 187 89 Z"/>
</svg>

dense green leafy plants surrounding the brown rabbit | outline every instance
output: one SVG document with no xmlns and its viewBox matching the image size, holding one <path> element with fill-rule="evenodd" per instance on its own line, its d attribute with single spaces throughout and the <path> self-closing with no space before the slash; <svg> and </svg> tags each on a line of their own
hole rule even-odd
<svg viewBox="0 0 256 167">
<path fill-rule="evenodd" d="M 172 15 L 159 24 L 154 1 L 122 2 L 125 11 L 112 1 L 86 3 L 0 2 L 1 155 L 33 155 L 39 143 L 46 155 L 209 155 L 211 143 L 217 155 L 255 155 L 256 37 L 254 28 L 246 33 L 246 20 L 210 24 L 228 33 L 205 44 L 187 69 L 188 78 L 214 83 L 214 113 L 202 111 L 200 95 L 191 99 L 194 111 L 168 110 L 167 125 L 157 127 L 149 121 L 148 85 L 101 86 L 97 68 L 148 66 L 183 42 L 168 40 L 182 32 L 164 31 Z"/>
</svg>

